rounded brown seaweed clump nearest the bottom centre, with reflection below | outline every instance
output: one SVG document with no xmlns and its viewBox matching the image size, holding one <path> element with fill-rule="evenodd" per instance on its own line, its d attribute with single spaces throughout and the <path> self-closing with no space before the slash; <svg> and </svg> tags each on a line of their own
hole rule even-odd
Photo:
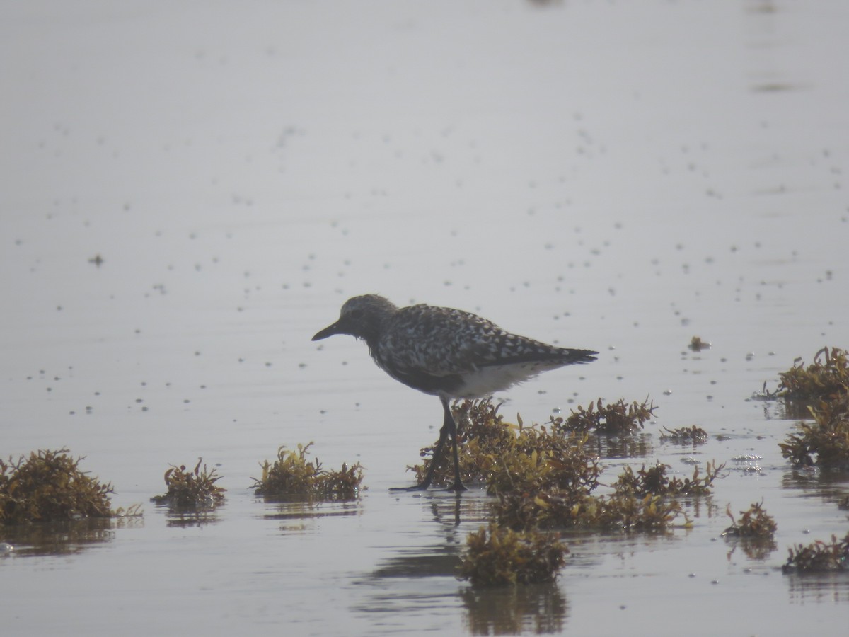
<svg viewBox="0 0 849 637">
<path fill-rule="evenodd" d="M 490 525 L 469 533 L 460 577 L 475 586 L 551 582 L 569 549 L 552 534 Z"/>
</svg>

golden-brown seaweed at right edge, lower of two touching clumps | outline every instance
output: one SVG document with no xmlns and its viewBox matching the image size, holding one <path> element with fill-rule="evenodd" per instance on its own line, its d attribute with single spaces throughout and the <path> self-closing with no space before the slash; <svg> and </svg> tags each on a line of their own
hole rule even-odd
<svg viewBox="0 0 849 637">
<path fill-rule="evenodd" d="M 808 410 L 813 421 L 799 422 L 798 433 L 779 443 L 781 455 L 798 466 L 849 467 L 849 394 Z"/>
</svg>

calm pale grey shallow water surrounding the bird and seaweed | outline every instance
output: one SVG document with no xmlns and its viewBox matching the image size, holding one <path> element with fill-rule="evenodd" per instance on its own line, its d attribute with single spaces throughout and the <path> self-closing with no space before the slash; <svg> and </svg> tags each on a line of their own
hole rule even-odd
<svg viewBox="0 0 849 637">
<path fill-rule="evenodd" d="M 793 470 L 793 420 L 750 400 L 847 345 L 842 3 L 0 16 L 0 452 L 67 446 L 145 509 L 4 536 L 4 634 L 843 634 L 849 578 L 779 567 L 846 533 L 846 476 Z M 500 398 L 544 422 L 651 397 L 643 455 L 611 454 L 610 479 L 655 459 L 728 477 L 689 531 L 576 535 L 557 583 L 470 589 L 458 555 L 490 499 L 388 491 L 436 437 L 436 399 L 361 343 L 309 340 L 374 291 L 602 352 Z M 691 425 L 706 445 L 661 443 Z M 362 499 L 252 495 L 261 460 L 309 441 L 363 463 Z M 225 505 L 149 505 L 199 456 Z M 720 533 L 726 505 L 761 499 L 777 549 L 752 559 Z"/>
</svg>

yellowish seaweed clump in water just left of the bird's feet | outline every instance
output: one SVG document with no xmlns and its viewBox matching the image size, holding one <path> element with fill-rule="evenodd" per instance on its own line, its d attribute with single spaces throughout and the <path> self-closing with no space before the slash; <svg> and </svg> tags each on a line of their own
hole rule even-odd
<svg viewBox="0 0 849 637">
<path fill-rule="evenodd" d="M 278 448 L 273 464 L 268 460 L 260 463 L 262 477 L 251 478 L 254 493 L 267 499 L 356 499 L 363 482 L 362 465 L 343 463 L 339 471 L 328 471 L 318 458 L 306 459 L 311 446 L 299 444 L 297 451 Z"/>
</svg>

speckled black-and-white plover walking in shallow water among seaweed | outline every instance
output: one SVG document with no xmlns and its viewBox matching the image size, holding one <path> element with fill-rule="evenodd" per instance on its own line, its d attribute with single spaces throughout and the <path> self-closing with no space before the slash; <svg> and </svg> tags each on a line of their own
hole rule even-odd
<svg viewBox="0 0 849 637">
<path fill-rule="evenodd" d="M 445 420 L 430 467 L 424 480 L 408 490 L 430 486 L 448 436 L 454 454 L 454 483 L 449 489 L 465 489 L 460 481 L 457 424 L 450 399 L 491 396 L 548 369 L 590 363 L 599 353 L 554 347 L 510 334 L 486 318 L 451 307 L 396 307 L 375 294 L 348 299 L 339 320 L 312 340 L 334 334 L 363 339 L 380 369 L 396 381 L 441 400 Z"/>
</svg>

